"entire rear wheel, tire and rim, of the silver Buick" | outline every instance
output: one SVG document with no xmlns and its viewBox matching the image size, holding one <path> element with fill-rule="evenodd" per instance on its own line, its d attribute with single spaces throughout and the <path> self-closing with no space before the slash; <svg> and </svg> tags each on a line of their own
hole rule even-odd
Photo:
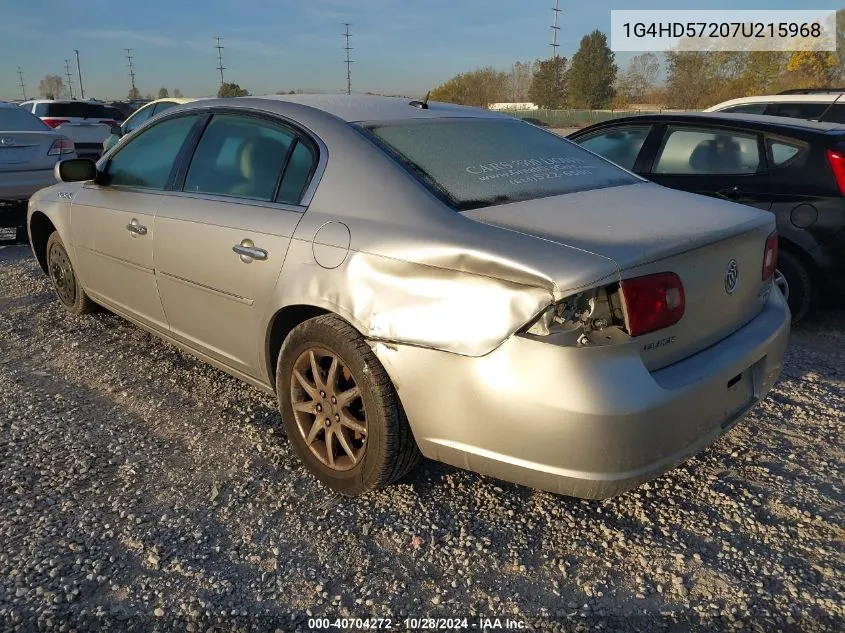
<svg viewBox="0 0 845 633">
<path fill-rule="evenodd" d="M 336 377 L 331 380 L 335 358 Z M 314 380 L 314 362 L 319 382 Z M 360 395 L 344 404 L 355 387 Z M 291 331 L 276 365 L 276 393 L 282 423 L 299 458 L 336 492 L 357 496 L 387 486 L 420 460 L 387 372 L 364 337 L 338 316 L 315 317 Z M 347 426 L 352 422 L 356 430 Z"/>
</svg>

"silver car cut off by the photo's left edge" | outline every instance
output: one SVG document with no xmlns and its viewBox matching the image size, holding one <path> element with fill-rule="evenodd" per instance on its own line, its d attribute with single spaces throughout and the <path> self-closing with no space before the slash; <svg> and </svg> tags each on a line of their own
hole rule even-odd
<svg viewBox="0 0 845 633">
<path fill-rule="evenodd" d="M 53 168 L 73 142 L 14 103 L 0 102 L 0 241 L 26 234 L 25 201 L 56 184 Z"/>
</svg>

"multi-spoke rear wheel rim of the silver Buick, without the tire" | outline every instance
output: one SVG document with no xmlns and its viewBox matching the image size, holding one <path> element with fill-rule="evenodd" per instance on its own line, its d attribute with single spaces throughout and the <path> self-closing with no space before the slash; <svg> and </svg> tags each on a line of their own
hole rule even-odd
<svg viewBox="0 0 845 633">
<path fill-rule="evenodd" d="M 346 363 L 327 349 L 306 349 L 293 365 L 290 395 L 308 450 L 332 470 L 357 466 L 367 449 L 367 414 Z"/>
</svg>

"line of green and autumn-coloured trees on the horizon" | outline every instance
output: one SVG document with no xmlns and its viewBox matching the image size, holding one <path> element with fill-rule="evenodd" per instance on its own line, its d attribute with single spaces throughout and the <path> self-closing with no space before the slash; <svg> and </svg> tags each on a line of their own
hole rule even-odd
<svg viewBox="0 0 845 633">
<path fill-rule="evenodd" d="M 431 99 L 488 107 L 533 102 L 549 109 L 622 109 L 633 105 L 700 109 L 735 97 L 845 84 L 845 9 L 836 15 L 833 52 L 703 51 L 643 53 L 619 68 L 607 36 L 585 35 L 569 60 L 557 56 L 460 73 Z"/>
</svg>

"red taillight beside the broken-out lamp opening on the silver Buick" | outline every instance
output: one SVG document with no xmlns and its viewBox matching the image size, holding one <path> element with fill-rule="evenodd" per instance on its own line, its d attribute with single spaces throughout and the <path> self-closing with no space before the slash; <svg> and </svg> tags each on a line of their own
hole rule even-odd
<svg viewBox="0 0 845 633">
<path fill-rule="evenodd" d="M 631 336 L 669 327 L 684 316 L 684 286 L 675 273 L 635 277 L 619 285 Z"/>
</svg>

